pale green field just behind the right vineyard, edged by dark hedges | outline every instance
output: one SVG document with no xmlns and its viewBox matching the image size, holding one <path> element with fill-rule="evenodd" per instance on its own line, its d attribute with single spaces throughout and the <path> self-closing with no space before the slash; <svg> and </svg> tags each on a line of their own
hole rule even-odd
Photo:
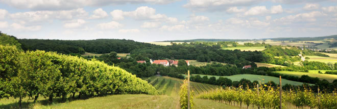
<svg viewBox="0 0 337 109">
<path fill-rule="evenodd" d="M 193 74 L 193 76 L 198 75 L 198 74 Z M 184 75 L 186 76 L 186 75 Z M 251 82 L 253 81 L 258 81 L 260 84 L 261 83 L 267 83 L 269 81 L 273 81 L 276 84 L 279 84 L 279 78 L 276 77 L 271 77 L 271 76 L 260 76 L 260 75 L 251 75 L 251 74 L 243 74 L 243 75 L 233 75 L 233 76 L 209 76 L 209 75 L 200 75 L 200 77 L 207 76 L 208 78 L 210 77 L 215 77 L 216 79 L 219 79 L 219 77 L 225 77 L 228 78 L 232 81 L 240 81 L 241 79 L 247 79 L 250 80 Z M 291 84 L 291 85 L 302 85 L 302 82 L 295 82 L 295 81 L 290 81 L 290 80 L 285 80 L 282 79 L 282 86 L 285 84 Z"/>
</svg>

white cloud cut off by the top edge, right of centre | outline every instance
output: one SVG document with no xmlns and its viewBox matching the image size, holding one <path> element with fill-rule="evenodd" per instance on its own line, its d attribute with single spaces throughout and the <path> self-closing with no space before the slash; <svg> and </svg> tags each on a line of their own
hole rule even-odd
<svg viewBox="0 0 337 109">
<path fill-rule="evenodd" d="M 193 11 L 223 11 L 230 7 L 250 6 L 264 0 L 189 0 L 183 7 Z"/>
</svg>

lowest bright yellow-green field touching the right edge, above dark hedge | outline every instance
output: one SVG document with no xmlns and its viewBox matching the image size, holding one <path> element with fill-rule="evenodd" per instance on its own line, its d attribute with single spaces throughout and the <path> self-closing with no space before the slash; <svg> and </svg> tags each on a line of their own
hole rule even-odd
<svg viewBox="0 0 337 109">
<path fill-rule="evenodd" d="M 324 70 L 321 70 L 324 71 Z M 337 80 L 337 75 L 330 75 L 330 74 L 318 74 L 318 71 L 316 73 L 316 70 L 311 70 L 309 72 L 297 72 L 297 71 L 274 71 L 279 74 L 284 74 L 284 75 L 291 75 L 291 76 L 298 76 L 301 77 L 302 75 L 308 75 L 309 77 L 317 77 L 320 80 L 327 80 L 329 82 L 332 82 L 333 80 Z M 314 73 L 315 72 L 315 73 Z"/>
</svg>

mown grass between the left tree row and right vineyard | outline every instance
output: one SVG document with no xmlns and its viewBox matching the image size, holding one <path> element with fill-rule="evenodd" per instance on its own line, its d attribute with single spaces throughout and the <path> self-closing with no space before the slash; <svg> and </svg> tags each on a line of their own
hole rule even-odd
<svg viewBox="0 0 337 109">
<path fill-rule="evenodd" d="M 122 95 L 107 95 L 96 96 L 92 98 L 84 98 L 80 100 L 68 100 L 66 102 L 57 102 L 60 98 L 55 98 L 55 103 L 48 104 L 47 99 L 39 97 L 38 103 L 28 105 L 26 102 L 32 102 L 29 98 L 23 99 L 24 108 L 180 108 L 179 104 L 179 89 L 183 83 L 181 79 L 171 77 L 151 77 L 145 80 L 158 82 L 154 86 L 159 85 L 160 81 L 165 79 L 165 82 L 159 85 L 158 91 L 163 90 L 163 86 L 171 80 L 166 92 L 161 95 L 145 95 L 145 94 L 122 94 Z M 150 81 L 150 83 L 151 83 Z M 191 89 L 195 92 L 195 108 L 239 108 L 239 106 L 227 105 L 225 103 L 214 102 L 206 99 L 197 99 L 200 93 L 216 90 L 219 86 L 201 84 L 191 82 Z M 0 108 L 17 107 L 18 98 L 1 99 Z"/>
</svg>

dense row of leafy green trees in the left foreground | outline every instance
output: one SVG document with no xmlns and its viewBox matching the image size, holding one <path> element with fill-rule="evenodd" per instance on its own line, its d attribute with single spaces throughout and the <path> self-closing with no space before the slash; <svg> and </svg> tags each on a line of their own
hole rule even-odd
<svg viewBox="0 0 337 109">
<path fill-rule="evenodd" d="M 65 99 L 68 95 L 158 94 L 136 76 L 98 60 L 86 60 L 55 52 L 19 52 L 0 45 L 0 99 L 39 96 Z"/>
</svg>

